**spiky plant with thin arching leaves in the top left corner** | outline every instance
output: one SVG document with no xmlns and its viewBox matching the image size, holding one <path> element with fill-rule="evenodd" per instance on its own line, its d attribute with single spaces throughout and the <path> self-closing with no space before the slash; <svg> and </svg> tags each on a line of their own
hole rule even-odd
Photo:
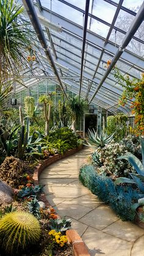
<svg viewBox="0 0 144 256">
<path fill-rule="evenodd" d="M 2 81 L 7 78 L 9 71 L 13 74 L 17 73 L 21 67 L 20 64 L 26 64 L 27 48 L 31 47 L 31 42 L 34 42 L 29 23 L 20 20 L 23 11 L 24 7 L 15 4 L 14 0 L 0 1 L 0 74 Z"/>
</svg>

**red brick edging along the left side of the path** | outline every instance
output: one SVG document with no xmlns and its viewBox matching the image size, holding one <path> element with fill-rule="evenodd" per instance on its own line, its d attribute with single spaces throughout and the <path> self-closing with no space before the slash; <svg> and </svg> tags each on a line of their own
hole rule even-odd
<svg viewBox="0 0 144 256">
<path fill-rule="evenodd" d="M 35 167 L 34 170 L 34 175 L 33 175 L 33 180 L 34 180 L 34 185 L 39 185 L 39 177 L 41 172 L 50 164 L 55 163 L 56 161 L 66 158 L 67 156 L 71 156 L 76 152 L 79 152 L 83 148 L 83 145 L 73 148 L 65 152 L 63 155 L 61 154 L 56 154 L 54 156 L 49 156 L 49 158 L 43 160 L 42 163 L 38 164 L 38 166 Z M 46 200 L 45 194 L 41 194 L 40 196 L 41 200 L 45 203 L 46 207 L 49 207 L 49 202 Z M 88 254 L 87 247 L 85 246 L 84 241 L 82 241 L 81 236 L 76 232 L 76 230 L 71 229 L 67 230 L 67 238 L 69 243 L 73 246 L 73 252 L 74 256 L 90 256 Z"/>
</svg>

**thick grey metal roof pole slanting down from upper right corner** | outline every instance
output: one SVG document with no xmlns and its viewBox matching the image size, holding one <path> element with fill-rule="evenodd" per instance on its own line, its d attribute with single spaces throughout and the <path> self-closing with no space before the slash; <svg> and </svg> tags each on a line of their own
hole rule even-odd
<svg viewBox="0 0 144 256">
<path fill-rule="evenodd" d="M 135 34 L 135 32 L 137 31 L 137 29 L 139 28 L 140 24 L 143 22 L 143 16 L 144 16 L 144 2 L 142 4 L 142 6 L 139 9 L 139 12 L 137 13 L 137 15 L 135 16 L 134 20 L 132 21 L 131 27 L 129 28 L 128 32 L 126 33 L 123 42 L 121 43 L 120 48 L 117 50 L 117 53 L 115 54 L 115 56 L 112 59 L 112 62 L 109 66 L 109 68 L 107 68 L 103 78 L 101 79 L 101 81 L 99 82 L 99 85 L 95 91 L 95 93 L 93 93 L 92 98 L 90 99 L 89 104 L 92 102 L 93 98 L 95 97 L 96 93 L 98 93 L 98 90 L 101 88 L 101 86 L 103 85 L 103 82 L 106 80 L 107 76 L 109 75 L 110 71 L 112 70 L 112 68 L 115 66 L 115 64 L 117 63 L 117 60 L 120 58 L 121 54 L 123 54 L 124 49 L 126 48 L 126 46 L 129 44 L 129 42 L 132 39 L 132 36 Z"/>
</svg>

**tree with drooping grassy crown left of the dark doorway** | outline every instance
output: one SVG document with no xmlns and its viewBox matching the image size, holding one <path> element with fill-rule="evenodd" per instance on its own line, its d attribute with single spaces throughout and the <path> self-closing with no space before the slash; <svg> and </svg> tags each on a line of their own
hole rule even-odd
<svg viewBox="0 0 144 256">
<path fill-rule="evenodd" d="M 80 117 L 83 117 L 84 112 L 88 109 L 87 101 L 84 99 L 75 96 L 73 98 L 70 98 L 70 108 L 72 112 L 72 130 L 76 131 L 76 122 L 80 119 Z"/>
</svg>

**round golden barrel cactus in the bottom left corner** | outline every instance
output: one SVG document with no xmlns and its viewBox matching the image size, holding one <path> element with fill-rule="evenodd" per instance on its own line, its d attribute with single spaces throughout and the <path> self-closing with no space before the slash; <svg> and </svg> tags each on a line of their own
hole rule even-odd
<svg viewBox="0 0 144 256">
<path fill-rule="evenodd" d="M 7 254 L 13 254 L 40 239 L 40 224 L 31 213 L 14 211 L 0 220 L 0 239 Z"/>
</svg>

